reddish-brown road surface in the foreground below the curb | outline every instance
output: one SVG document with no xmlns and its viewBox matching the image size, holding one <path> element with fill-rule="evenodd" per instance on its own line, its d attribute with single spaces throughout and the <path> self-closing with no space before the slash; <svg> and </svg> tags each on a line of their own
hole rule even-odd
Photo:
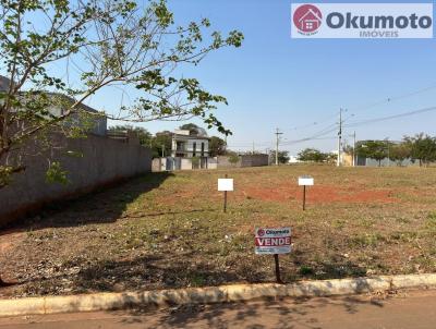
<svg viewBox="0 0 436 329">
<path fill-rule="evenodd" d="M 435 327 L 436 291 L 0 318 L 0 329 Z"/>
</svg>

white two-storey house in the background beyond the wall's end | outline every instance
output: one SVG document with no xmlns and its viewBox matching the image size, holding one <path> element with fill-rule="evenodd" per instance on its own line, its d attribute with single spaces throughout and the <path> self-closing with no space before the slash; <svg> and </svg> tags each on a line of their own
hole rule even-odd
<svg viewBox="0 0 436 329">
<path fill-rule="evenodd" d="M 207 158 L 209 137 L 204 129 L 175 130 L 172 134 L 171 157 Z"/>
</svg>

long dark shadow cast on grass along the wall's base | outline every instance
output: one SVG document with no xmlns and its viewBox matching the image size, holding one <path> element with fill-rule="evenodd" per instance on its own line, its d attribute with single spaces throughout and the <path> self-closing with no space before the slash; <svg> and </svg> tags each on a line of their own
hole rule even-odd
<svg viewBox="0 0 436 329">
<path fill-rule="evenodd" d="M 39 215 L 3 228 L 0 235 L 45 228 L 114 222 L 121 218 L 130 203 L 158 188 L 171 175 L 170 172 L 147 173 L 73 199 L 52 203 L 44 207 Z"/>
</svg>

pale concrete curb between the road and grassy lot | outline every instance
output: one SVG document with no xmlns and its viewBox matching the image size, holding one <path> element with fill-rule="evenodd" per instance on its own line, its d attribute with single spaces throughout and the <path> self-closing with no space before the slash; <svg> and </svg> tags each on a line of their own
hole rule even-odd
<svg viewBox="0 0 436 329">
<path fill-rule="evenodd" d="M 436 288 L 436 273 L 300 281 L 289 284 L 234 284 L 180 290 L 29 297 L 0 300 L 0 316 L 110 310 L 140 305 L 210 304 L 262 297 L 348 295 L 392 289 L 432 287 Z"/>
</svg>

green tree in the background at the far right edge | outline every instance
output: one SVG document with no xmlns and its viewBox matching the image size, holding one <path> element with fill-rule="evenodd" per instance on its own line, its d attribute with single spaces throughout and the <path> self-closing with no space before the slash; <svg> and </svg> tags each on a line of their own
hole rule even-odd
<svg viewBox="0 0 436 329">
<path fill-rule="evenodd" d="M 404 144 L 410 148 L 410 157 L 420 161 L 420 167 L 436 160 L 436 138 L 420 133 L 405 136 Z"/>
</svg>

